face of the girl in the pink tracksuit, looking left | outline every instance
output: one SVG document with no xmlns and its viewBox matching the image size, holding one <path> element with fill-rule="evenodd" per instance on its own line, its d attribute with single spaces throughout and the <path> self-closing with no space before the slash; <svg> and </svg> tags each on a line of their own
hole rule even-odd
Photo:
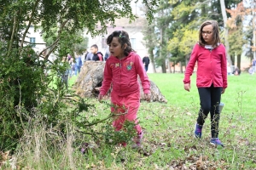
<svg viewBox="0 0 256 170">
<path fill-rule="evenodd" d="M 111 55 L 122 59 L 125 57 L 124 49 L 126 48 L 126 44 L 124 47 L 121 47 L 121 43 L 119 42 L 119 37 L 113 37 L 112 42 L 109 44 L 109 52 Z"/>
</svg>

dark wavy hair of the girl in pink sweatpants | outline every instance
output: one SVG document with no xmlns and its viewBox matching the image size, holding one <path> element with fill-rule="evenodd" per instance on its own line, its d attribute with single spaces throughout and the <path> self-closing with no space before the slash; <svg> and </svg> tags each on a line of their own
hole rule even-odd
<svg viewBox="0 0 256 170">
<path fill-rule="evenodd" d="M 127 44 L 127 47 L 125 48 L 124 50 L 124 54 L 125 56 L 127 56 L 128 54 L 131 53 L 131 51 L 134 51 L 132 48 L 131 48 L 131 42 L 130 42 L 130 38 L 129 38 L 129 35 L 126 31 L 113 31 L 112 34 L 110 34 L 107 38 L 107 44 L 109 45 L 112 40 L 113 40 L 113 37 L 118 37 L 119 38 L 119 42 L 121 44 L 121 48 L 124 47 L 125 43 Z"/>
</svg>

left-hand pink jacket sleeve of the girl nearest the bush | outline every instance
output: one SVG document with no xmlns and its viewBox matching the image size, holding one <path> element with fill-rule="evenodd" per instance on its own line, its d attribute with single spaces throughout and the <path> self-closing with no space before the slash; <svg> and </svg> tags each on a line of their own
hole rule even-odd
<svg viewBox="0 0 256 170">
<path fill-rule="evenodd" d="M 104 68 L 102 88 L 100 89 L 100 94 L 102 95 L 107 94 L 108 89 L 110 88 L 111 82 L 112 82 L 112 70 L 107 60 Z"/>
</svg>

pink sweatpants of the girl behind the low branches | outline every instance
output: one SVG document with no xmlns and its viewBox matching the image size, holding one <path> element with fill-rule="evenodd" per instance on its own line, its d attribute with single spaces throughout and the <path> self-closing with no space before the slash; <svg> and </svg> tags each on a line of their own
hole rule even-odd
<svg viewBox="0 0 256 170">
<path fill-rule="evenodd" d="M 114 92 L 111 93 L 111 112 L 115 114 L 125 113 L 125 115 L 118 116 L 113 121 L 113 127 L 116 131 L 119 131 L 125 122 L 125 120 L 135 122 L 137 124 L 137 111 L 140 106 L 140 92 L 130 94 L 127 96 L 119 96 Z M 137 124 L 135 126 L 137 133 L 142 132 L 142 128 Z"/>
</svg>

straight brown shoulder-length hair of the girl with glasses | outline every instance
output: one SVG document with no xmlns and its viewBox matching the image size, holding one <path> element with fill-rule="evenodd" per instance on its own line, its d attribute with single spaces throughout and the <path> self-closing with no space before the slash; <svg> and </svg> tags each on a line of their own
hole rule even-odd
<svg viewBox="0 0 256 170">
<path fill-rule="evenodd" d="M 218 22 L 215 20 L 207 20 L 204 23 L 202 23 L 199 31 L 199 44 L 201 46 L 205 46 L 206 42 L 202 35 L 202 29 L 205 26 L 212 25 L 212 38 L 213 38 L 213 44 L 212 47 L 216 48 L 218 46 L 218 43 L 220 42 L 219 33 L 218 33 Z"/>
</svg>

